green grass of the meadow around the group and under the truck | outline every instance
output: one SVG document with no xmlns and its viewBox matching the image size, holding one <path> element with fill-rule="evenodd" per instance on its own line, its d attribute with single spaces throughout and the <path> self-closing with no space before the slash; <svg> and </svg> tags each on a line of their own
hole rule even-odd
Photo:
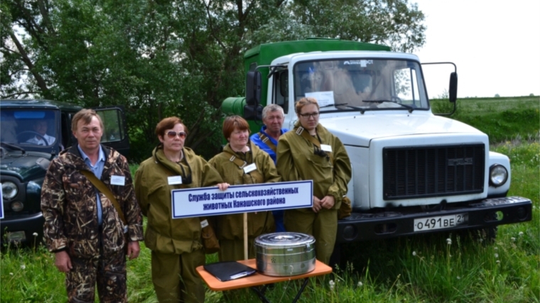
<svg viewBox="0 0 540 303">
<path fill-rule="evenodd" d="M 475 127 L 488 134 L 507 123 L 491 150 L 509 156 L 509 194 L 533 201 L 532 221 L 500 226 L 495 243 L 443 232 L 349 244 L 343 252 L 350 262 L 311 280 L 300 302 L 540 302 L 539 103 L 538 97 L 460 99 L 458 113 L 451 116 L 478 121 Z M 497 123 L 494 117 L 506 122 Z M 137 167 L 131 165 L 132 173 Z M 208 263 L 216 260 L 216 254 L 207 255 Z M 0 301 L 65 302 L 64 275 L 53 263 L 43 247 L 2 250 Z M 271 302 L 291 302 L 298 287 L 298 282 L 282 282 L 266 294 Z M 157 302 L 150 250 L 144 243 L 140 257 L 128 261 L 128 291 L 129 302 Z M 232 301 L 259 299 L 246 290 Z M 207 290 L 206 302 L 227 300 L 221 292 Z"/>
</svg>

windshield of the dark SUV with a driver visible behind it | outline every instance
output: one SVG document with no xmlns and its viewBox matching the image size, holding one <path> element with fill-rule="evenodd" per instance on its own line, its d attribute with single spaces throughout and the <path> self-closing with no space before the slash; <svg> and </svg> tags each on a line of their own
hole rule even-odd
<svg viewBox="0 0 540 303">
<path fill-rule="evenodd" d="M 0 142 L 20 145 L 25 149 L 55 144 L 59 136 L 58 111 L 2 109 Z"/>
</svg>

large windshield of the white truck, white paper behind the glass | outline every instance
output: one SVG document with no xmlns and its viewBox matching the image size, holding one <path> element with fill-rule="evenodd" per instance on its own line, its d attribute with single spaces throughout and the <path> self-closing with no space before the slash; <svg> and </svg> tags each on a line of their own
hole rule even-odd
<svg viewBox="0 0 540 303">
<path fill-rule="evenodd" d="M 428 109 L 418 62 L 304 61 L 293 72 L 295 101 L 313 97 L 321 111 Z"/>
</svg>

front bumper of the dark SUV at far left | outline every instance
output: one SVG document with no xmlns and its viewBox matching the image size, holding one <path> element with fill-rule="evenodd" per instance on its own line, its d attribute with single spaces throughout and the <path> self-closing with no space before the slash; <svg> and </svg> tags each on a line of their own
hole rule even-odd
<svg viewBox="0 0 540 303">
<path fill-rule="evenodd" d="M 20 242 L 22 244 L 43 241 L 43 214 L 40 212 L 27 216 L 4 217 L 0 220 L 1 243 Z M 38 233 L 34 236 L 33 233 Z"/>
</svg>

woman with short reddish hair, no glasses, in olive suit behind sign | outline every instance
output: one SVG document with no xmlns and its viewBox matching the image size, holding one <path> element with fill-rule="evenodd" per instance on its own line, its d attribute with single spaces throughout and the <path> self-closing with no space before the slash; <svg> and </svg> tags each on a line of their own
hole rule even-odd
<svg viewBox="0 0 540 303">
<path fill-rule="evenodd" d="M 210 159 L 210 165 L 231 185 L 279 182 L 274 160 L 249 141 L 249 124 L 240 116 L 223 121 L 223 136 L 229 141 L 223 152 Z M 220 240 L 220 261 L 244 260 L 243 214 L 215 216 Z M 247 214 L 248 258 L 255 258 L 254 240 L 263 233 L 275 231 L 271 211 Z"/>
</svg>

